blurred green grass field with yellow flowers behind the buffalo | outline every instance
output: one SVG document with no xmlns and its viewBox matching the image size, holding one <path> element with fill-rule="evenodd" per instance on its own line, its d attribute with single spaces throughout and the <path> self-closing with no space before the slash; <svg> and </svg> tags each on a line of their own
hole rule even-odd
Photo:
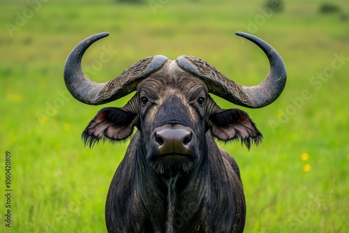
<svg viewBox="0 0 349 233">
<path fill-rule="evenodd" d="M 245 232 L 348 232 L 349 3 L 328 2 L 341 12 L 320 14 L 322 1 L 311 0 L 285 0 L 281 13 L 261 10 L 260 0 L 0 1 L 0 232 L 106 232 L 105 197 L 127 143 L 84 148 L 80 135 L 105 106 L 79 103 L 63 80 L 70 50 L 101 31 L 110 36 L 83 63 L 96 82 L 144 57 L 190 54 L 255 85 L 267 75 L 267 59 L 235 31 L 275 47 L 288 68 L 283 94 L 262 109 L 239 107 L 263 143 L 250 151 L 221 144 L 242 172 Z M 105 50 L 110 59 L 102 63 Z"/>
</svg>

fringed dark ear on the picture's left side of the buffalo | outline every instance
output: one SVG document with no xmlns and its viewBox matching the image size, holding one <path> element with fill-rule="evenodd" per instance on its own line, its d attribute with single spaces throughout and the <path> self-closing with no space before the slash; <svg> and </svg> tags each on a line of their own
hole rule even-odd
<svg viewBox="0 0 349 233">
<path fill-rule="evenodd" d="M 130 136 L 135 126 L 136 114 L 118 107 L 100 110 L 82 133 L 84 144 L 94 146 L 103 136 L 112 141 L 124 140 Z"/>
</svg>

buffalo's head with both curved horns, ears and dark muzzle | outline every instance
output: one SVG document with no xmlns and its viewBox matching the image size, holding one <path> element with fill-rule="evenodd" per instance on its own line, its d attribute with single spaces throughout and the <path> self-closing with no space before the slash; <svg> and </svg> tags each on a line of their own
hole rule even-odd
<svg viewBox="0 0 349 233">
<path fill-rule="evenodd" d="M 121 108 L 102 109 L 84 130 L 92 146 L 98 140 L 124 140 L 137 127 L 148 165 L 158 173 L 189 172 L 200 161 L 208 130 L 219 140 L 240 139 L 250 146 L 261 134 L 246 112 L 222 110 L 209 96 L 213 93 L 245 107 L 264 107 L 279 97 L 286 71 L 279 54 L 263 40 L 237 33 L 258 45 L 270 63 L 269 75 L 255 87 L 244 87 L 225 77 L 202 59 L 190 56 L 170 61 L 163 56 L 135 63 L 114 80 L 96 83 L 85 77 L 81 60 L 87 48 L 108 33 L 83 40 L 69 54 L 64 80 L 70 93 L 82 103 L 100 105 L 132 91 L 135 95 Z"/>
</svg>

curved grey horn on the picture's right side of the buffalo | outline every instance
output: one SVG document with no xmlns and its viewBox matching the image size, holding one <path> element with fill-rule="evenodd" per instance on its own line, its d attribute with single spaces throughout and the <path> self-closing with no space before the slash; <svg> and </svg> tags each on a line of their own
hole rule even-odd
<svg viewBox="0 0 349 233">
<path fill-rule="evenodd" d="M 251 108 L 265 107 L 274 102 L 285 87 L 287 77 L 285 63 L 278 52 L 260 38 L 248 33 L 237 32 L 236 34 L 258 45 L 269 59 L 269 74 L 257 86 L 245 87 L 237 84 L 202 59 L 181 56 L 176 61 L 184 70 L 198 75 L 205 82 L 210 93 L 236 105 Z"/>
</svg>

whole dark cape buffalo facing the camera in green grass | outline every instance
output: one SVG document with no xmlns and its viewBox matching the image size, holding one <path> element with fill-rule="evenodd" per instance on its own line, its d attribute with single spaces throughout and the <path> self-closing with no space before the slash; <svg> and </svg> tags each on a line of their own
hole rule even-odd
<svg viewBox="0 0 349 233">
<path fill-rule="evenodd" d="M 90 36 L 70 52 L 64 80 L 77 100 L 101 105 L 135 91 L 124 107 L 100 110 L 82 133 L 89 146 L 133 135 L 107 195 L 109 232 L 244 230 L 239 167 L 214 138 L 241 140 L 249 149 L 262 134 L 246 112 L 221 109 L 209 93 L 235 105 L 264 107 L 283 91 L 286 70 L 272 46 L 247 33 L 237 35 L 258 45 L 269 59 L 269 74 L 257 86 L 237 84 L 191 56 L 175 61 L 147 57 L 114 80 L 96 83 L 82 72 L 81 60 L 87 48 L 108 33 Z"/>
</svg>

